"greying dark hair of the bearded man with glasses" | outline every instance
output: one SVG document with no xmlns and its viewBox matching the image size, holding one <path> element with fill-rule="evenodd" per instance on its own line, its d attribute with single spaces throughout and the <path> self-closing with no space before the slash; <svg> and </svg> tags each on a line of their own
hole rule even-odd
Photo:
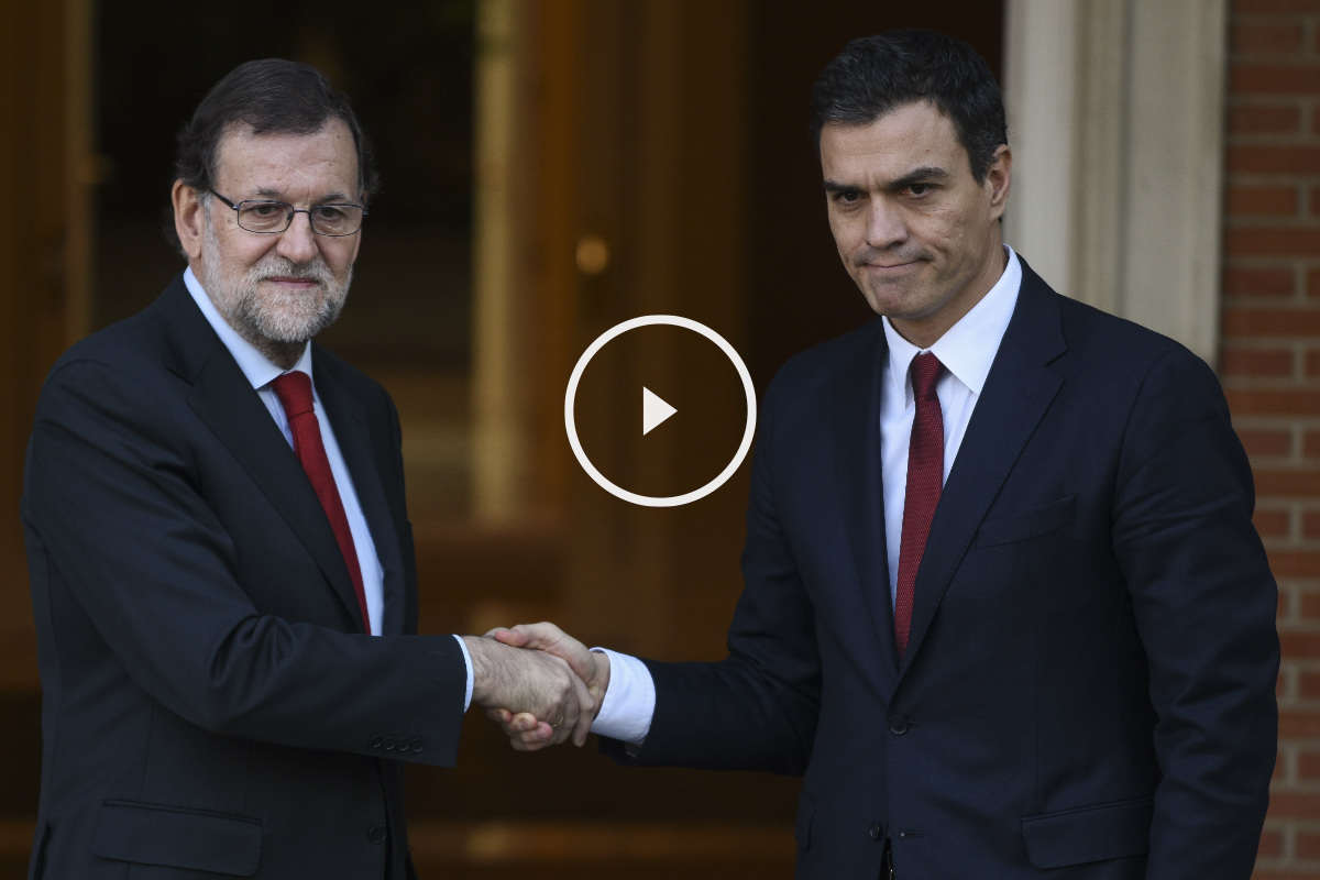
<svg viewBox="0 0 1320 880">
<path fill-rule="evenodd" d="M 236 123 L 256 135 L 314 135 L 331 117 L 342 119 L 352 133 L 359 198 L 366 202 L 379 178 L 348 96 L 315 67 L 282 58 L 244 62 L 211 87 L 178 133 L 174 177 L 199 193 L 211 189 L 220 140 Z"/>
</svg>

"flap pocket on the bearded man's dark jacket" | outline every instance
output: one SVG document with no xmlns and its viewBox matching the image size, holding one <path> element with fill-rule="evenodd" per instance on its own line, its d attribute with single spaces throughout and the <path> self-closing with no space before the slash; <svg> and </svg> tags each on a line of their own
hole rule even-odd
<svg viewBox="0 0 1320 880">
<path fill-rule="evenodd" d="M 261 860 L 260 819 L 183 806 L 106 801 L 96 814 L 92 855 L 251 877 Z"/>
</svg>

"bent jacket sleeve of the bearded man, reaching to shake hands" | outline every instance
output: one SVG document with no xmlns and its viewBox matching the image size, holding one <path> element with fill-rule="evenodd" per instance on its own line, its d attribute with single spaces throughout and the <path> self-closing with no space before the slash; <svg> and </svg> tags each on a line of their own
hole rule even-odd
<svg viewBox="0 0 1320 880">
<path fill-rule="evenodd" d="M 370 637 L 260 613 L 242 583 L 253 550 L 240 553 L 209 505 L 176 416 L 114 364 L 71 360 L 51 373 L 22 507 L 33 577 L 46 581 L 34 596 L 71 596 L 65 619 L 94 631 L 137 687 L 203 730 L 453 764 L 466 686 L 455 640 Z M 383 752 L 381 731 L 425 748 Z"/>
</svg>

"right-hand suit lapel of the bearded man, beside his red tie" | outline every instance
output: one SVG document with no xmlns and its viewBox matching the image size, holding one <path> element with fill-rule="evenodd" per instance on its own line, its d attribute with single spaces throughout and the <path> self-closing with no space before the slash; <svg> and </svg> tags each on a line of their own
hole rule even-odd
<svg viewBox="0 0 1320 880">
<path fill-rule="evenodd" d="M 347 393 L 338 373 L 330 368 L 329 359 L 319 356 L 319 350 L 314 346 L 312 351 L 315 361 L 317 393 L 321 396 L 321 404 L 330 418 L 330 426 L 334 429 L 345 464 L 348 466 L 352 488 L 358 493 L 358 504 L 362 505 L 362 515 L 367 519 L 371 541 L 376 548 L 376 558 L 384 571 L 384 583 L 381 584 L 384 620 L 380 632 L 385 636 L 401 635 L 404 631 L 403 551 L 399 548 L 399 533 L 389 516 L 384 488 L 380 486 L 380 470 L 372 455 L 367 414 L 363 412 L 362 404 Z"/>
</svg>

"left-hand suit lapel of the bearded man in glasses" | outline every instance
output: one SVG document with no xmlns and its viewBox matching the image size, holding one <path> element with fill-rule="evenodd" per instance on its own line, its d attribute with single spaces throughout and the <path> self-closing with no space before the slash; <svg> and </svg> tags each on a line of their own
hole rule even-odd
<svg viewBox="0 0 1320 880">
<path fill-rule="evenodd" d="M 193 384 L 187 402 L 284 517 L 325 574 L 345 610 L 362 625 L 358 596 L 334 530 L 302 464 L 261 398 L 193 302 L 182 278 L 161 297 L 165 365 Z"/>
</svg>

